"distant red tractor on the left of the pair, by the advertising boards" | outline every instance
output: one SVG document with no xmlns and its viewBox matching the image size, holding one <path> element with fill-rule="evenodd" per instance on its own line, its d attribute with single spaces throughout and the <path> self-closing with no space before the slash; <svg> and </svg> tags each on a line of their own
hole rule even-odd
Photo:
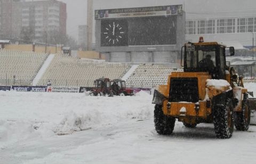
<svg viewBox="0 0 256 164">
<path fill-rule="evenodd" d="M 91 96 L 113 97 L 113 91 L 110 87 L 108 78 L 100 78 L 94 81 L 94 88 L 91 89 Z"/>
</svg>

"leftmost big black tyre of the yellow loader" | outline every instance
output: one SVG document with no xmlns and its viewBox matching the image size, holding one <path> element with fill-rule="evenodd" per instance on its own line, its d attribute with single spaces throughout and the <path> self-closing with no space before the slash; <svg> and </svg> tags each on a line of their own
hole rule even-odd
<svg viewBox="0 0 256 164">
<path fill-rule="evenodd" d="M 158 134 L 170 135 L 175 125 L 175 118 L 165 116 L 162 106 L 156 105 L 154 110 L 154 123 Z"/>
</svg>

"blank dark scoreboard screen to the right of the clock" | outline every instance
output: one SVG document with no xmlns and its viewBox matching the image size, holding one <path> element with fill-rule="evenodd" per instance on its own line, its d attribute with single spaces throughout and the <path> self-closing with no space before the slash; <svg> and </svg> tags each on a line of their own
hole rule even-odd
<svg viewBox="0 0 256 164">
<path fill-rule="evenodd" d="M 176 16 L 131 20 L 129 46 L 175 45 L 176 28 Z"/>
</svg>

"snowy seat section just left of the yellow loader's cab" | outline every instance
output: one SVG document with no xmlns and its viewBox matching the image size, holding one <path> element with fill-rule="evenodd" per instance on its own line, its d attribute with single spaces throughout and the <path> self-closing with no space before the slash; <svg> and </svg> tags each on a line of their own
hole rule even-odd
<svg viewBox="0 0 256 164">
<path fill-rule="evenodd" d="M 171 68 L 164 64 L 140 64 L 126 80 L 127 87 L 156 88 L 156 85 L 167 84 L 171 72 L 182 69 Z"/>
</svg>

